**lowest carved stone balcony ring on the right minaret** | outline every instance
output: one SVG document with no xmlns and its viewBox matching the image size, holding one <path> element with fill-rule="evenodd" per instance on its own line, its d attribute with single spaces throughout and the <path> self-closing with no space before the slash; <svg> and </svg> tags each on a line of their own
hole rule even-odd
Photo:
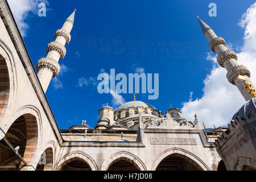
<svg viewBox="0 0 256 182">
<path fill-rule="evenodd" d="M 230 83 L 235 85 L 234 81 L 237 79 L 237 77 L 239 75 L 246 75 L 246 76 L 250 77 L 251 73 L 250 73 L 249 69 L 247 69 L 245 66 L 239 65 L 237 67 L 230 69 L 230 71 L 228 73 L 226 73 L 226 78 L 228 78 L 228 81 Z"/>
</svg>

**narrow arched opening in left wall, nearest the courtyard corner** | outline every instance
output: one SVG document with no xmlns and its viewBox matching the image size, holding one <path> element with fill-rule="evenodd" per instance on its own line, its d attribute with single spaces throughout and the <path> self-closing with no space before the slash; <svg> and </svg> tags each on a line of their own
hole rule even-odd
<svg viewBox="0 0 256 182">
<path fill-rule="evenodd" d="M 52 148 L 47 148 L 39 159 L 36 171 L 52 171 L 53 167 L 53 151 Z"/>
</svg>

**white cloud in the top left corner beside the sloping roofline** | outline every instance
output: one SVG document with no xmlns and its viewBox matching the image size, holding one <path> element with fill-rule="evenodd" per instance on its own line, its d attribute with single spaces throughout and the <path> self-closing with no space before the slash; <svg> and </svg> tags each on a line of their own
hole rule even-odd
<svg viewBox="0 0 256 182">
<path fill-rule="evenodd" d="M 30 13 L 37 13 L 39 10 L 38 4 L 40 2 L 44 2 L 46 5 L 49 4 L 47 0 L 7 0 L 7 2 L 10 5 L 11 11 L 22 36 L 26 36 L 26 31 L 29 28 L 27 23 L 28 15 Z"/>
</svg>

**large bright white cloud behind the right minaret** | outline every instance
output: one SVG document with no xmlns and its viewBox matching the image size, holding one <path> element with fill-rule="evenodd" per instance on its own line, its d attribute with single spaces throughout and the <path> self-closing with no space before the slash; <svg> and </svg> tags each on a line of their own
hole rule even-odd
<svg viewBox="0 0 256 182">
<path fill-rule="evenodd" d="M 237 53 L 238 63 L 245 65 L 251 72 L 251 81 L 256 82 L 256 3 L 243 14 L 238 23 L 245 29 L 243 46 Z M 232 49 L 232 44 L 228 44 Z M 207 59 L 213 61 L 213 67 L 204 80 L 204 95 L 201 98 L 183 103 L 183 117 L 193 120 L 195 114 L 207 127 L 227 126 L 234 113 L 245 100 L 235 85 L 226 79 L 226 70 L 216 64 L 216 55 L 208 53 Z"/>
</svg>

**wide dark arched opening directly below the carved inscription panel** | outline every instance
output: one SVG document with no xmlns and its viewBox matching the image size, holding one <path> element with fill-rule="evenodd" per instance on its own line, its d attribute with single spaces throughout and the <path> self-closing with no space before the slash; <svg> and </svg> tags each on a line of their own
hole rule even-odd
<svg viewBox="0 0 256 182">
<path fill-rule="evenodd" d="M 158 164 L 156 171 L 203 171 L 203 169 L 187 156 L 171 154 Z"/>
</svg>

